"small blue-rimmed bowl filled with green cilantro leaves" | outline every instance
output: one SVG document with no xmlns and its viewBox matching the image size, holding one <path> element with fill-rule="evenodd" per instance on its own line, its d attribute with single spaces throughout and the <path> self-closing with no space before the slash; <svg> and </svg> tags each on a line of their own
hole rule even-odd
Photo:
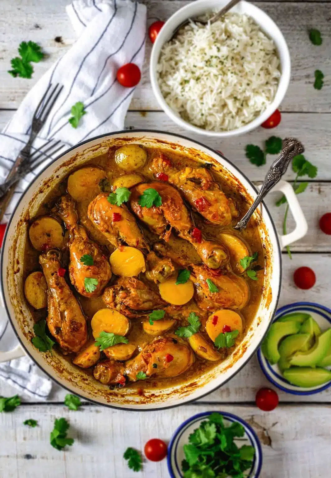
<svg viewBox="0 0 331 478">
<path fill-rule="evenodd" d="M 240 417 L 203 412 L 186 420 L 168 447 L 171 478 L 257 478 L 262 449 L 255 431 Z"/>
</svg>

